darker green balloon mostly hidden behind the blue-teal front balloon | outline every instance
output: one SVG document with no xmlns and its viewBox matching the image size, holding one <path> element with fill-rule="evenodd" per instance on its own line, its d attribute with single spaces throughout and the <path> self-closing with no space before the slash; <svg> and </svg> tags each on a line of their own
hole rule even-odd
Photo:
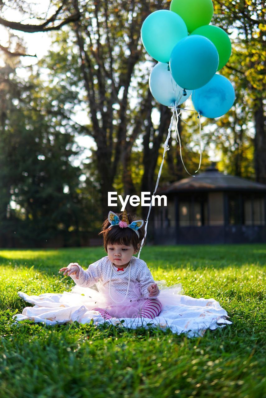
<svg viewBox="0 0 266 398">
<path fill-rule="evenodd" d="M 198 27 L 191 35 L 201 35 L 209 39 L 216 47 L 219 55 L 219 64 L 217 70 L 225 66 L 229 60 L 232 46 L 227 33 L 218 26 L 205 25 Z"/>
</svg>

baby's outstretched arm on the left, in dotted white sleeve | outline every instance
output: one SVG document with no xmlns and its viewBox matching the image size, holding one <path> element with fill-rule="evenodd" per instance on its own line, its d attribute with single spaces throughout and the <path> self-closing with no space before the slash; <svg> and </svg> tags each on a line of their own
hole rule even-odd
<svg viewBox="0 0 266 398">
<path fill-rule="evenodd" d="M 69 264 L 67 268 L 70 268 L 72 264 Z M 90 264 L 86 271 L 79 264 L 75 263 L 75 265 L 79 268 L 78 278 L 74 273 L 70 274 L 69 276 L 70 278 L 73 279 L 76 285 L 82 287 L 90 287 L 94 285 L 94 283 L 97 283 L 101 278 L 102 275 L 101 260 L 98 260 L 95 263 Z"/>
</svg>

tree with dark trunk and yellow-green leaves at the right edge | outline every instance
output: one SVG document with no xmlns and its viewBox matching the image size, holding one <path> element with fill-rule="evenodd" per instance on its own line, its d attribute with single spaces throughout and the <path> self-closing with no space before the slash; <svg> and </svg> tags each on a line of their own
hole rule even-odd
<svg viewBox="0 0 266 398">
<path fill-rule="evenodd" d="M 233 37 L 233 52 L 221 74 L 233 82 L 236 92 L 235 106 L 217 122 L 217 125 L 222 128 L 223 133 L 229 128 L 231 139 L 235 141 L 233 146 L 229 142 L 227 145 L 229 153 L 236 154 L 235 173 L 241 175 L 241 169 L 245 169 L 239 162 L 243 156 L 246 156 L 246 161 L 250 160 L 248 147 L 251 145 L 254 146 L 256 180 L 266 183 L 266 122 L 263 104 L 266 59 L 265 8 L 260 0 L 215 0 L 214 12 L 215 24 L 220 25 Z M 250 134 L 252 124 L 254 140 Z M 250 172 L 249 166 L 248 170 Z"/>
</svg>

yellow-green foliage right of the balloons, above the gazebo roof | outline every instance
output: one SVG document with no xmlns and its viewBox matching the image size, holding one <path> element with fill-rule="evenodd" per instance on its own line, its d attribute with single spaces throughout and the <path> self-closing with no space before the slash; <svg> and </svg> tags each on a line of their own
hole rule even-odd
<svg viewBox="0 0 266 398">
<path fill-rule="evenodd" d="M 255 117 L 256 112 L 263 117 L 260 99 L 265 97 L 265 10 L 259 0 L 214 0 L 213 5 L 213 24 L 231 38 L 232 54 L 220 73 L 233 83 L 236 99 L 232 109 L 215 121 L 217 127 L 210 128 L 209 142 L 214 142 L 221 154 L 221 170 L 258 179 L 265 174 L 264 166 L 255 170 L 254 162 L 254 158 L 263 156 L 259 150 L 254 152 L 254 137 L 261 136 L 258 140 L 265 146 Z"/>
</svg>

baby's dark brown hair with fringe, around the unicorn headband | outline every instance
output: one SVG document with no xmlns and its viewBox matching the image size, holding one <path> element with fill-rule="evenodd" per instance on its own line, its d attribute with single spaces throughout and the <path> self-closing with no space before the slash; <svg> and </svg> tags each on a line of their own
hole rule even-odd
<svg viewBox="0 0 266 398">
<path fill-rule="evenodd" d="M 115 213 L 119 217 L 119 219 L 122 219 L 123 213 Z M 139 220 L 139 217 L 136 217 L 135 215 L 128 214 L 127 218 L 129 220 L 129 224 L 135 220 Z M 107 245 L 111 244 L 118 244 L 118 245 L 133 245 L 133 248 L 135 250 L 139 250 L 139 244 L 141 244 L 141 241 L 143 240 L 144 233 L 145 233 L 145 227 L 144 224 L 141 228 L 138 229 L 139 232 L 139 237 L 137 236 L 136 232 L 132 230 L 131 228 L 121 228 L 119 225 L 114 225 L 111 228 L 108 228 L 110 226 L 110 222 L 108 219 L 104 221 L 102 224 L 102 230 L 99 233 L 99 235 L 102 234 L 104 238 L 104 248 L 107 252 Z M 144 242 L 145 243 L 145 242 Z M 143 244 L 144 244 L 143 243 Z"/>
</svg>

